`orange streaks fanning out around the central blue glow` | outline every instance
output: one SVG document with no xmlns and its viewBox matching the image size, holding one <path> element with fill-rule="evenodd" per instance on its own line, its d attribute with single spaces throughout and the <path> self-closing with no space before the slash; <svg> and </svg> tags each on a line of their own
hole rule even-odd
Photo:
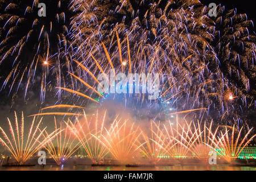
<svg viewBox="0 0 256 182">
<path fill-rule="evenodd" d="M 127 73 L 162 73 L 163 69 L 162 67 L 159 67 L 159 65 L 157 65 L 157 68 L 154 66 L 156 64 L 155 62 L 155 58 L 152 58 L 152 60 L 147 63 L 147 60 L 144 60 L 142 57 L 138 57 L 138 59 L 144 60 L 143 64 L 140 65 L 139 67 L 133 63 L 131 61 L 131 51 L 130 51 L 130 47 L 129 47 L 129 37 L 128 34 L 126 35 L 126 40 L 125 42 L 127 43 L 127 61 L 128 65 L 123 65 L 123 60 L 122 60 L 122 45 L 121 42 L 119 41 L 119 37 L 118 37 L 118 33 L 115 32 L 116 36 L 117 36 L 117 43 L 118 43 L 118 52 L 119 52 L 119 58 L 120 58 L 120 62 L 116 65 L 116 69 L 117 71 L 114 71 L 114 77 L 117 77 L 117 73 L 119 71 L 123 71 L 123 72 L 127 72 Z M 100 105 L 104 105 L 104 102 L 108 102 L 108 101 L 114 101 L 114 102 L 122 102 L 123 106 L 128 109 L 133 108 L 133 112 L 138 112 L 139 110 L 145 111 L 146 113 L 143 113 L 142 111 L 140 113 L 137 113 L 137 115 L 147 115 L 149 117 L 152 117 L 152 119 L 156 118 L 156 117 L 160 117 L 160 119 L 164 120 L 166 119 L 166 109 L 169 106 L 173 106 L 176 105 L 176 101 L 177 100 L 182 100 L 184 99 L 184 94 L 182 94 L 182 92 L 184 92 L 184 90 L 180 91 L 180 85 L 177 85 L 177 82 L 174 82 L 170 76 L 166 76 L 168 74 L 166 73 L 162 73 L 164 75 L 163 78 L 161 78 L 163 80 L 163 82 L 161 83 L 162 88 L 160 90 L 156 90 L 158 97 L 156 98 L 156 100 L 152 101 L 152 100 L 147 100 L 147 96 L 148 94 L 145 94 L 144 92 L 139 92 L 139 93 L 132 93 L 132 94 L 104 94 L 104 93 L 99 93 L 95 87 L 97 86 L 97 84 L 99 86 L 101 86 L 104 90 L 106 88 L 104 88 L 104 86 L 101 85 L 100 81 L 97 79 L 97 74 L 99 73 L 104 73 L 104 76 L 108 78 L 107 74 L 113 71 L 114 68 L 114 61 L 116 59 L 115 55 L 112 55 L 111 57 L 114 57 L 113 59 L 110 57 L 104 43 L 102 43 L 102 47 L 104 48 L 104 52 L 105 52 L 105 56 L 106 56 L 106 60 L 107 62 L 105 63 L 104 60 L 98 61 L 96 59 L 96 57 L 94 57 L 92 55 L 92 53 L 90 53 L 90 57 L 92 57 L 92 65 L 95 65 L 95 67 L 90 67 L 87 68 L 84 66 L 85 61 L 79 62 L 76 60 L 73 60 L 76 64 L 77 67 L 79 69 L 81 69 L 85 75 L 88 74 L 88 78 L 87 76 L 83 76 L 80 74 L 80 76 L 76 76 L 73 73 L 69 73 L 69 75 L 71 75 L 72 78 L 75 78 L 75 80 L 77 82 L 81 82 L 81 87 L 79 86 L 75 86 L 75 85 L 71 85 L 72 88 L 76 88 L 76 89 L 68 89 L 68 88 L 57 88 L 63 91 L 66 91 L 68 93 L 72 93 L 75 94 L 76 96 L 81 96 L 82 98 L 85 98 L 89 101 L 93 101 L 96 102 L 97 104 Z M 158 47 L 155 47 L 155 51 L 152 53 L 152 57 L 156 57 L 158 55 Z M 139 50 L 138 50 L 139 53 Z M 191 57 L 191 56 L 189 56 Z M 189 59 L 189 57 L 187 57 L 187 59 Z M 158 58 L 157 58 L 158 60 Z M 158 60 L 159 61 L 159 60 Z M 185 60 L 184 60 L 185 61 Z M 169 72 L 168 72 L 169 73 Z M 146 80 L 148 79 L 148 75 L 146 74 Z M 85 80 L 89 80 L 89 81 L 85 81 Z M 89 84 L 89 82 L 92 82 L 92 84 Z M 75 82 L 74 82 L 75 83 Z M 134 84 L 134 83 L 129 83 L 129 84 Z M 136 84 L 136 83 L 135 83 Z M 139 80 L 138 84 L 142 84 L 142 81 Z M 141 88 L 142 89 L 142 88 Z M 147 90 L 149 90 L 150 88 L 146 88 Z M 141 90 L 143 91 L 143 90 Z M 171 97 L 169 97 L 171 95 Z M 189 94 L 188 94 L 189 96 Z M 92 98 L 93 97 L 93 98 Z M 185 96 L 186 97 L 186 96 Z M 187 99 L 187 98 L 186 98 Z M 53 106 L 54 107 L 54 106 Z M 147 110 L 144 110 L 145 107 L 147 108 Z M 135 109 L 136 108 L 136 109 Z M 135 109 L 135 110 L 134 110 Z M 188 112 L 192 112 L 192 111 L 197 111 L 197 110 L 208 110 L 208 108 L 200 108 L 200 109 L 190 109 L 187 111 L 180 111 L 180 112 L 176 112 L 174 114 L 177 113 L 188 113 Z M 152 113 L 156 113 L 156 115 L 152 115 Z M 169 114 L 171 115 L 171 114 Z M 202 115 L 200 113 L 200 115 Z"/>
</svg>

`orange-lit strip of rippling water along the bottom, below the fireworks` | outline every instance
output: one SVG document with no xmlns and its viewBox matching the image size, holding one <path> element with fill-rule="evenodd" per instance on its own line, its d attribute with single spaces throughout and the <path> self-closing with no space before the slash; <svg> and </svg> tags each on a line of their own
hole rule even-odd
<svg viewBox="0 0 256 182">
<path fill-rule="evenodd" d="M 125 167 L 125 166 L 72 166 L 46 165 L 33 167 L 0 167 L 1 171 L 256 171 L 256 167 L 240 167 L 229 165 L 212 166 L 156 166 L 156 167 Z"/>
</svg>

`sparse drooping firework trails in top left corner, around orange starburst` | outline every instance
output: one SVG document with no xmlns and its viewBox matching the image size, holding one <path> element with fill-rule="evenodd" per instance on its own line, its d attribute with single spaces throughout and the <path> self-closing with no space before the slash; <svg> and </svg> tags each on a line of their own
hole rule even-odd
<svg viewBox="0 0 256 182">
<path fill-rule="evenodd" d="M 46 5 L 46 17 L 38 15 L 39 3 Z M 26 98 L 27 89 L 40 76 L 41 100 L 44 101 L 50 82 L 48 75 L 57 73 L 56 82 L 60 84 L 62 63 L 67 63 L 73 51 L 70 23 L 78 11 L 69 0 L 5 0 L 0 2 L 0 7 L 0 64 L 6 70 L 1 89 L 9 86 L 11 92 L 16 86 L 18 92 L 20 84 L 26 82 L 23 90 Z"/>
</svg>

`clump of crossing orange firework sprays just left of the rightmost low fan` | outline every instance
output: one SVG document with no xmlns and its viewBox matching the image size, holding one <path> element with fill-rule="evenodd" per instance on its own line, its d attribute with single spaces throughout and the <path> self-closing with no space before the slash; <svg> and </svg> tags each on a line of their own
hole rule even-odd
<svg viewBox="0 0 256 182">
<path fill-rule="evenodd" d="M 183 159 L 187 156 L 195 156 L 197 158 L 206 158 L 210 150 L 213 150 L 213 142 L 218 128 L 212 132 L 212 122 L 209 127 L 204 123 L 203 130 L 199 122 L 188 123 L 176 120 L 176 124 L 168 121 L 163 124 L 163 129 L 155 125 L 152 130 L 156 135 L 156 139 L 152 139 L 163 152 L 163 155 L 168 155 L 171 158 Z"/>
</svg>

